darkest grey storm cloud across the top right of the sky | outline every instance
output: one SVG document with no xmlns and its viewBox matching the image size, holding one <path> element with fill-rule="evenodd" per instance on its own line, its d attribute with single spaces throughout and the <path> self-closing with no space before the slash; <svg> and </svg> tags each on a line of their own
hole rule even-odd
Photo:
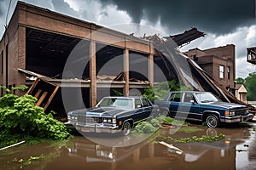
<svg viewBox="0 0 256 170">
<path fill-rule="evenodd" d="M 134 22 L 147 19 L 172 30 L 197 27 L 212 33 L 228 33 L 238 26 L 249 26 L 255 20 L 255 0 L 102 0 L 113 3 L 131 15 Z"/>
</svg>

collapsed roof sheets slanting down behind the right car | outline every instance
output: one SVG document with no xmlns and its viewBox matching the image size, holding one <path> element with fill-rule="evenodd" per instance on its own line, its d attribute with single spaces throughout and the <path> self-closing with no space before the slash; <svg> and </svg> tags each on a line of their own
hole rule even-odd
<svg viewBox="0 0 256 170">
<path fill-rule="evenodd" d="M 183 37 L 183 35 L 181 35 Z M 225 102 L 237 103 L 241 105 L 247 105 L 251 112 L 256 113 L 256 109 L 252 105 L 248 105 L 238 99 L 233 94 L 220 86 L 206 71 L 202 70 L 194 60 L 179 53 L 175 49 L 176 42 L 172 41 L 172 38 L 166 41 L 163 38 L 149 37 L 151 41 L 154 41 L 154 48 L 156 48 L 163 59 L 168 62 L 166 65 L 168 68 L 173 68 L 177 74 L 176 81 L 183 83 L 187 87 L 191 87 L 196 91 L 209 91 L 217 95 L 219 99 Z"/>
</svg>

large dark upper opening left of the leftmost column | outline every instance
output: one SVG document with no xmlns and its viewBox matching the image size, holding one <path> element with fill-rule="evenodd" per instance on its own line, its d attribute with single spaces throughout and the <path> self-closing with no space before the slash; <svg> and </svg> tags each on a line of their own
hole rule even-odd
<svg viewBox="0 0 256 170">
<path fill-rule="evenodd" d="M 89 41 L 53 32 L 26 28 L 26 70 L 48 77 L 61 78 L 70 59 L 65 78 L 80 78 L 75 74 L 83 68 L 89 55 Z M 72 57 L 71 57 L 72 56 Z M 88 60 L 88 59 L 87 59 Z M 80 71 L 80 72 L 82 72 Z M 80 74 L 83 75 L 83 72 Z"/>
</svg>

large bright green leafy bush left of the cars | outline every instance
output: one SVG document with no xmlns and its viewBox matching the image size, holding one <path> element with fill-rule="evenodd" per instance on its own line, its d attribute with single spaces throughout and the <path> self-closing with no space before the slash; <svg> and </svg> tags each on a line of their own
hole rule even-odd
<svg viewBox="0 0 256 170">
<path fill-rule="evenodd" d="M 63 122 L 55 120 L 53 112 L 46 114 L 35 105 L 37 99 L 25 94 L 18 97 L 11 90 L 26 90 L 20 86 L 9 90 L 0 98 L 0 147 L 23 139 L 67 139 L 70 134 Z"/>
</svg>

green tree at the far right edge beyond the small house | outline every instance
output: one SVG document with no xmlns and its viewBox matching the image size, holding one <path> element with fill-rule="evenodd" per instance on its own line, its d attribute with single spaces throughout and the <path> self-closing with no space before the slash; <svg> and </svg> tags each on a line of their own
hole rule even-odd
<svg viewBox="0 0 256 170">
<path fill-rule="evenodd" d="M 256 101 L 256 72 L 245 78 L 244 86 L 247 88 L 247 100 Z"/>
</svg>

